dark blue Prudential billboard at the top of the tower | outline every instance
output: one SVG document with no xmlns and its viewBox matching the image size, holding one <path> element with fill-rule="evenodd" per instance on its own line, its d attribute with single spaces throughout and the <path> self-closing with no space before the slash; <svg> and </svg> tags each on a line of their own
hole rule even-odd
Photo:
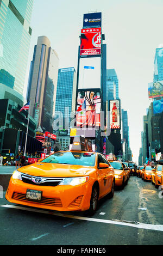
<svg viewBox="0 0 163 256">
<path fill-rule="evenodd" d="M 83 16 L 83 28 L 101 27 L 101 13 L 87 13 Z"/>
</svg>

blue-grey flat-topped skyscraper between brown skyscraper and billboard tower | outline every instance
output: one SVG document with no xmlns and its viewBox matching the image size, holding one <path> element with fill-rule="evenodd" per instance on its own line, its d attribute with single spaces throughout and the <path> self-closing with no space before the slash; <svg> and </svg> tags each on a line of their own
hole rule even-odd
<svg viewBox="0 0 163 256">
<path fill-rule="evenodd" d="M 62 117 L 70 123 L 70 113 L 75 111 L 76 107 L 76 70 L 71 68 L 59 69 L 57 95 L 55 101 L 55 118 Z M 59 113 L 60 112 L 60 113 Z M 63 119 L 63 121 L 64 121 Z M 59 130 L 65 129 L 65 123 L 59 127 Z"/>
</svg>

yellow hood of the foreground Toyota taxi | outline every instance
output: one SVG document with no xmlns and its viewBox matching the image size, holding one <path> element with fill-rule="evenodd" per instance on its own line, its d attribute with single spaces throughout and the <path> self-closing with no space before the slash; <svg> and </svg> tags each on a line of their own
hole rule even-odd
<svg viewBox="0 0 163 256">
<path fill-rule="evenodd" d="M 24 166 L 18 169 L 19 172 L 24 174 L 43 177 L 83 176 L 91 170 L 95 170 L 95 167 L 41 162 L 29 164 L 29 166 Z"/>
</svg>

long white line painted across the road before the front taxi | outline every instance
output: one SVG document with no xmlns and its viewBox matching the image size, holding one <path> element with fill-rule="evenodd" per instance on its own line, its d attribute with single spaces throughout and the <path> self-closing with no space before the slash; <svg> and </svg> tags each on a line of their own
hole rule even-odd
<svg viewBox="0 0 163 256">
<path fill-rule="evenodd" d="M 136 224 L 133 224 L 133 223 L 130 223 L 128 221 L 111 221 L 111 220 L 102 220 L 102 219 L 99 219 L 99 218 L 87 218 L 87 217 L 73 216 L 73 215 L 68 215 L 68 214 L 61 214 L 59 212 L 56 213 L 56 212 L 51 212 L 51 211 L 45 211 L 45 210 L 33 209 L 33 208 L 26 208 L 26 207 L 22 207 L 22 206 L 15 206 L 15 205 L 9 205 L 9 204 L 1 205 L 1 207 L 19 209 L 19 210 L 24 210 L 24 211 L 39 212 L 41 214 L 51 214 L 51 215 L 59 216 L 59 217 L 73 218 L 74 220 L 93 221 L 93 222 L 106 223 L 106 224 L 116 224 L 116 225 L 126 225 L 128 227 L 133 227 L 133 228 L 163 231 L 163 225 L 153 225 L 153 224 L 146 224 L 146 223 L 140 223 L 140 222 L 136 222 Z"/>
</svg>

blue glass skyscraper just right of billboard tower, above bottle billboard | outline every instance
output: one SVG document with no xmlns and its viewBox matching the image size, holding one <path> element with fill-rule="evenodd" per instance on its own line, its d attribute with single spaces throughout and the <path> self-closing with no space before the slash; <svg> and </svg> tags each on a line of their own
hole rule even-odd
<svg viewBox="0 0 163 256">
<path fill-rule="evenodd" d="M 119 86 L 118 86 L 118 77 L 115 69 L 106 70 L 106 86 L 108 87 L 109 97 L 113 99 L 119 99 Z"/>
</svg>

